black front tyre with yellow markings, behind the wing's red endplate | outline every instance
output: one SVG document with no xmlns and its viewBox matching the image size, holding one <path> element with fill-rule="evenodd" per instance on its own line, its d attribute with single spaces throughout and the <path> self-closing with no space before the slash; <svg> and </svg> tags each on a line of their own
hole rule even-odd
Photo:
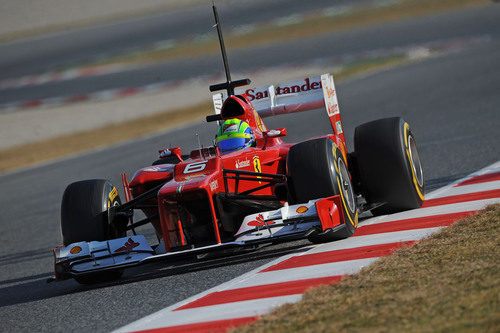
<svg viewBox="0 0 500 333">
<path fill-rule="evenodd" d="M 328 138 L 298 143 L 287 157 L 287 179 L 290 203 L 340 195 L 345 226 L 309 236 L 313 243 L 330 242 L 352 236 L 358 224 L 356 195 L 347 163 L 337 145 Z M 339 207 L 340 208 L 340 207 Z"/>
</svg>

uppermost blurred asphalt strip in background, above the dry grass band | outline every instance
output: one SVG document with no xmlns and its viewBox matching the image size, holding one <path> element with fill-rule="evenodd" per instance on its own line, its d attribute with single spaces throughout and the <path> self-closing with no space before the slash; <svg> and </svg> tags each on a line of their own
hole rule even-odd
<svg viewBox="0 0 500 333">
<path fill-rule="evenodd" d="M 223 27 L 231 30 L 316 12 L 332 5 L 369 1 L 315 0 L 307 4 L 302 0 L 219 1 L 217 8 Z M 161 41 L 215 33 L 211 5 L 211 1 L 206 1 L 205 5 L 0 44 L 0 78 L 42 73 Z"/>
</svg>

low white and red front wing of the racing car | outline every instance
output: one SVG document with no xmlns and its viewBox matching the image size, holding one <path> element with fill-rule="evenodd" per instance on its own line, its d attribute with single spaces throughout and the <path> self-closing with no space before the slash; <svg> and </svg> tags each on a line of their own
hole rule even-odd
<svg viewBox="0 0 500 333">
<path fill-rule="evenodd" d="M 163 243 L 153 249 L 143 235 L 61 246 L 53 251 L 55 280 L 123 269 L 157 260 L 301 239 L 312 233 L 336 230 L 344 227 L 345 223 L 339 209 L 340 204 L 339 196 L 311 200 L 306 204 L 285 204 L 277 210 L 245 217 L 233 242 L 179 251 L 165 252 Z"/>
</svg>

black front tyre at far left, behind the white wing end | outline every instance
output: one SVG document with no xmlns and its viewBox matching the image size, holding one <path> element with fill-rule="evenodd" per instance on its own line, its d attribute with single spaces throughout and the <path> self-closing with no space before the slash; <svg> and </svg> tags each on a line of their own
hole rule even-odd
<svg viewBox="0 0 500 333">
<path fill-rule="evenodd" d="M 110 207 L 120 205 L 116 188 L 107 180 L 92 179 L 70 184 L 61 204 L 61 233 L 65 246 L 81 241 L 105 241 L 126 236 L 111 223 Z M 81 275 L 83 284 L 119 278 L 122 270 Z"/>
</svg>

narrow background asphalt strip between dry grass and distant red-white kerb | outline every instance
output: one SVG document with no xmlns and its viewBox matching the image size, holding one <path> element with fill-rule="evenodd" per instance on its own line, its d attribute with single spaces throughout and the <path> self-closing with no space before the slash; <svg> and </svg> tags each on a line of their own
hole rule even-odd
<svg viewBox="0 0 500 333">
<path fill-rule="evenodd" d="M 291 8 L 294 7 L 291 6 Z M 226 20 L 226 17 L 223 17 L 223 19 Z M 228 13 L 227 20 L 231 19 L 232 16 Z M 349 32 L 324 34 L 301 41 L 287 41 L 261 47 L 250 47 L 244 50 L 231 51 L 230 45 L 227 45 L 228 57 L 233 71 L 235 69 L 245 69 L 245 71 L 250 72 L 265 67 L 300 66 L 301 62 L 312 61 L 317 58 L 332 58 L 331 61 L 336 62 L 342 57 L 363 54 L 377 49 L 407 47 L 456 38 L 499 36 L 500 24 L 498 22 L 500 22 L 500 6 L 481 6 L 402 22 L 389 22 L 375 27 L 368 26 Z M 215 31 L 213 33 L 215 34 Z M 109 44 L 113 45 L 113 43 L 110 42 Z M 86 52 L 83 54 L 92 51 L 86 49 Z M 43 56 L 41 59 L 44 59 Z M 62 61 L 56 55 L 52 55 L 48 61 L 56 60 Z M 10 69 L 23 70 L 24 67 L 29 68 L 29 65 L 24 65 L 21 62 L 20 64 L 8 65 L 5 69 L 2 67 L 5 66 L 2 65 L 0 56 L 0 73 L 3 71 L 8 73 Z M 175 82 L 196 78 L 200 75 L 217 75 L 220 74 L 221 68 L 222 62 L 218 54 L 183 58 L 118 73 L 0 90 L 0 104 L 73 96 L 161 82 Z"/>
</svg>

